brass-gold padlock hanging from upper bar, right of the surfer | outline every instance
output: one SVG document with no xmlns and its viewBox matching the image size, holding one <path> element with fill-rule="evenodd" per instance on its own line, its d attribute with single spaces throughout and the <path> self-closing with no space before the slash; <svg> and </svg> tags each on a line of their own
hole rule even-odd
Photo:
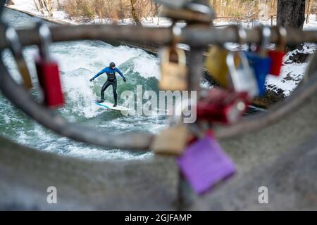
<svg viewBox="0 0 317 225">
<path fill-rule="evenodd" d="M 169 47 L 165 47 L 161 51 L 161 81 L 159 88 L 161 90 L 185 91 L 187 90 L 187 67 L 185 51 L 175 48 L 178 56 L 178 63 L 170 61 Z"/>
</svg>

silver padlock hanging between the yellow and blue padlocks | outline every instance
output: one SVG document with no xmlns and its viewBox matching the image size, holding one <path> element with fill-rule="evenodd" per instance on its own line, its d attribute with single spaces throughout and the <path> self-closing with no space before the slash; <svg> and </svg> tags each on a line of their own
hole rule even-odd
<svg viewBox="0 0 317 225">
<path fill-rule="evenodd" d="M 235 58 L 239 58 L 240 65 L 235 65 Z M 232 79 L 232 85 L 237 92 L 247 92 L 250 98 L 259 95 L 259 87 L 254 71 L 250 68 L 247 56 L 243 51 L 232 51 L 227 56 L 227 64 Z"/>
</svg>

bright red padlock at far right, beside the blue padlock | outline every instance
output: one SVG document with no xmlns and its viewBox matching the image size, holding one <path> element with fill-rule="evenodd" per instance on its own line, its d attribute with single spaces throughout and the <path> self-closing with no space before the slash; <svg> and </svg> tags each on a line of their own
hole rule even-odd
<svg viewBox="0 0 317 225">
<path fill-rule="evenodd" d="M 285 56 L 285 46 L 287 41 L 287 31 L 284 27 L 275 27 L 278 30 L 279 41 L 275 50 L 269 50 L 268 56 L 271 58 L 271 70 L 270 75 L 280 76 L 280 70 L 282 69 L 283 58 Z"/>
</svg>

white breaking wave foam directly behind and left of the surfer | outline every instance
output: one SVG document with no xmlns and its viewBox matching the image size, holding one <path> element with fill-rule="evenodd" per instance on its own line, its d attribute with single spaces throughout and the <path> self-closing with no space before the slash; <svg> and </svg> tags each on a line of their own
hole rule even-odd
<svg viewBox="0 0 317 225">
<path fill-rule="evenodd" d="M 89 82 L 89 79 L 111 61 L 116 62 L 128 80 L 129 72 L 137 72 L 142 77 L 159 77 L 158 59 L 128 46 L 114 47 L 102 41 L 75 41 L 54 44 L 51 51 L 63 74 L 61 82 L 70 101 L 71 112 L 87 118 L 102 112 L 94 104 L 99 95 L 94 93 L 93 88 L 99 85 L 98 89 L 101 89 L 106 75 L 101 75 L 94 83 Z M 63 110 L 64 113 L 65 110 L 70 111 L 69 108 Z"/>
</svg>

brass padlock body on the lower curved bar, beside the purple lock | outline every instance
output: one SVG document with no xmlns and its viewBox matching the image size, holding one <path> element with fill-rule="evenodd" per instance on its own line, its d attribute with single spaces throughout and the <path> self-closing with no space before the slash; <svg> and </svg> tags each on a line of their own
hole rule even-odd
<svg viewBox="0 0 317 225">
<path fill-rule="evenodd" d="M 163 129 L 151 143 L 151 150 L 156 154 L 181 155 L 187 145 L 189 131 L 184 124 Z"/>
</svg>

